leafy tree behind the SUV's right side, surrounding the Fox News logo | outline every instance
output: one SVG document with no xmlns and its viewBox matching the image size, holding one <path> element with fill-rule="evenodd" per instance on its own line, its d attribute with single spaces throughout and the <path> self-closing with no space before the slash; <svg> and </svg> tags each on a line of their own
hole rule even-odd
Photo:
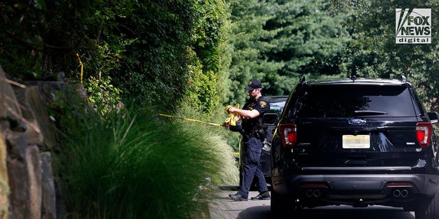
<svg viewBox="0 0 439 219">
<path fill-rule="evenodd" d="M 340 69 L 349 76 L 407 79 L 418 88 L 425 105 L 438 110 L 436 78 L 438 77 L 438 36 L 431 44 L 396 44 L 396 8 L 431 8 L 432 29 L 437 29 L 439 1 L 333 1 L 340 10 L 353 14 L 348 29 L 353 40 L 344 51 Z"/>
</svg>

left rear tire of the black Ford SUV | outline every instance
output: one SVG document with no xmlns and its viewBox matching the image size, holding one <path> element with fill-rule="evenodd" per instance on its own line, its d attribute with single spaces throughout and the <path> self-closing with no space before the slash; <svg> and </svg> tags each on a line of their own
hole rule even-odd
<svg viewBox="0 0 439 219">
<path fill-rule="evenodd" d="M 271 192 L 271 215 L 272 219 L 292 218 L 300 214 L 300 207 L 294 203 L 292 198 L 277 194 L 274 190 Z"/>
</svg>

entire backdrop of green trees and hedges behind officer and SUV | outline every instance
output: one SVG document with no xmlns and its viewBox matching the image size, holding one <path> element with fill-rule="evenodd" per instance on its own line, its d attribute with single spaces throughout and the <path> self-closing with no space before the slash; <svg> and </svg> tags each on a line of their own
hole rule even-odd
<svg viewBox="0 0 439 219">
<path fill-rule="evenodd" d="M 1 1 L 0 64 L 15 81 L 83 86 L 103 119 L 132 103 L 137 113 L 222 123 L 224 105 L 243 104 L 250 79 L 272 96 L 303 76 L 353 72 L 405 75 L 438 111 L 439 36 L 395 44 L 396 8 L 431 8 L 439 29 L 438 0 Z M 218 130 L 208 131 L 237 150 L 237 134 Z"/>
</svg>

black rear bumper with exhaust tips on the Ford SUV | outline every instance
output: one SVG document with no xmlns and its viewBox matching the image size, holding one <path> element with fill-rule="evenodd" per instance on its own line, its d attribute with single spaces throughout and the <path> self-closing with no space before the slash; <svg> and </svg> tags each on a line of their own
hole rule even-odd
<svg viewBox="0 0 439 219">
<path fill-rule="evenodd" d="M 410 209 L 439 190 L 438 175 L 351 174 L 272 177 L 272 189 L 300 205 L 385 205 Z"/>
</svg>

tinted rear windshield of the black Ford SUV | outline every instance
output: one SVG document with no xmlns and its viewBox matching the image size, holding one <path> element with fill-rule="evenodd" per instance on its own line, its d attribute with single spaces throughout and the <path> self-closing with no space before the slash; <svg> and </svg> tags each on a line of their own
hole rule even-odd
<svg viewBox="0 0 439 219">
<path fill-rule="evenodd" d="M 403 86 L 309 86 L 296 106 L 298 117 L 416 116 Z"/>
</svg>

